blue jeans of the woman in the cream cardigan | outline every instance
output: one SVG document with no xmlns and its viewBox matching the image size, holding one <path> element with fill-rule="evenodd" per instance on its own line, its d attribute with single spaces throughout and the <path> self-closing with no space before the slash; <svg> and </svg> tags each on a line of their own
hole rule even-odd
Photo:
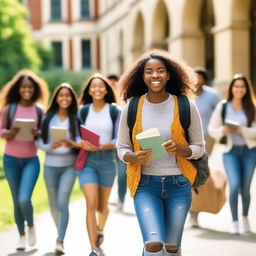
<svg viewBox="0 0 256 256">
<path fill-rule="evenodd" d="M 229 204 L 233 221 L 238 220 L 238 194 L 241 193 L 243 216 L 248 216 L 250 185 L 256 165 L 256 148 L 233 146 L 223 154 L 224 167 L 229 182 Z"/>
</svg>

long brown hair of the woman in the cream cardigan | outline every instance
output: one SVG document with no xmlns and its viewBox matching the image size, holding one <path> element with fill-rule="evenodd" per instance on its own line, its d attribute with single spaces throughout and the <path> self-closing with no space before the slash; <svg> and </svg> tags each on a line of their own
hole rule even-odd
<svg viewBox="0 0 256 256">
<path fill-rule="evenodd" d="M 242 99 L 243 110 L 247 117 L 247 125 L 248 127 L 252 126 L 252 122 L 255 120 L 256 110 L 255 110 L 255 98 L 252 86 L 249 80 L 243 74 L 235 74 L 233 79 L 231 80 L 229 87 L 227 89 L 227 101 L 232 101 L 233 93 L 232 88 L 234 86 L 235 81 L 242 80 L 245 84 L 246 93 Z"/>
</svg>

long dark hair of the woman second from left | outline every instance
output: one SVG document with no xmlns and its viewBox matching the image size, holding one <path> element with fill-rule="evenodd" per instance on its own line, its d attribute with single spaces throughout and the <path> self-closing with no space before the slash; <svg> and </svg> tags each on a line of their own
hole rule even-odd
<svg viewBox="0 0 256 256">
<path fill-rule="evenodd" d="M 68 83 L 61 83 L 58 85 L 52 95 L 51 102 L 49 104 L 49 108 L 46 112 L 45 118 L 43 119 L 41 125 L 41 137 L 44 143 L 48 141 L 48 130 L 49 130 L 49 123 L 53 116 L 58 112 L 59 104 L 57 103 L 57 97 L 61 89 L 67 88 L 70 91 L 72 102 L 68 107 L 68 117 L 69 117 L 69 131 L 73 140 L 76 137 L 76 131 L 78 130 L 78 120 L 77 120 L 77 95 L 72 88 L 72 86 Z"/>
</svg>

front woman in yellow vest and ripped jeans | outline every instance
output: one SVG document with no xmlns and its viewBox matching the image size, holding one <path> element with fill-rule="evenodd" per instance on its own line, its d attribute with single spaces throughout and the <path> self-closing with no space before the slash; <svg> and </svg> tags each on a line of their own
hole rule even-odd
<svg viewBox="0 0 256 256">
<path fill-rule="evenodd" d="M 144 241 L 145 256 L 181 255 L 181 238 L 191 204 L 191 184 L 196 169 L 188 159 L 204 153 L 203 130 L 197 108 L 190 102 L 191 125 L 186 142 L 179 121 L 177 96 L 193 88 L 193 71 L 168 52 L 154 50 L 141 56 L 119 81 L 124 99 L 139 96 L 130 139 L 123 110 L 117 149 L 128 163 L 130 194 Z M 165 141 L 166 156 L 151 159 L 151 150 L 141 150 L 136 134 L 158 128 Z"/>
</svg>

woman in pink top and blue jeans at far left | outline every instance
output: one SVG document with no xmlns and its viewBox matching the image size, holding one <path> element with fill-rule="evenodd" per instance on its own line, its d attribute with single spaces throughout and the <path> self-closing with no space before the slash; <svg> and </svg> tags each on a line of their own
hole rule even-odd
<svg viewBox="0 0 256 256">
<path fill-rule="evenodd" d="M 47 85 L 29 70 L 17 73 L 1 92 L 0 136 L 6 140 L 3 168 L 10 186 L 15 222 L 20 235 L 17 250 L 25 250 L 26 235 L 30 246 L 36 243 L 31 197 L 40 166 L 35 140 L 16 139 L 19 128 L 15 120 L 33 119 L 35 127 L 27 133 L 30 136 L 32 134 L 32 138 L 38 137 L 43 111 L 36 103 L 44 106 L 47 98 Z"/>
</svg>

